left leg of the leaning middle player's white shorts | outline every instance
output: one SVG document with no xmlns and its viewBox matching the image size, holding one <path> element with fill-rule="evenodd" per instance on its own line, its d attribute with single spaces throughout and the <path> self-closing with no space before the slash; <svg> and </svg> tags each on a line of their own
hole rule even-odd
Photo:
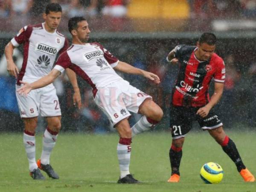
<svg viewBox="0 0 256 192">
<path fill-rule="evenodd" d="M 131 116 L 124 102 L 122 102 L 122 91 L 118 87 L 99 88 L 94 101 L 102 109 L 113 126 L 122 119 L 127 119 Z"/>
</svg>

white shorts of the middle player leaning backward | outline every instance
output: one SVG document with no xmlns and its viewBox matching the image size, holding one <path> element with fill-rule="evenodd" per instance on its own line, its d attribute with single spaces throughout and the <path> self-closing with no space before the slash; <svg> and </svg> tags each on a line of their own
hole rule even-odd
<svg viewBox="0 0 256 192">
<path fill-rule="evenodd" d="M 129 111 L 138 113 L 140 105 L 151 96 L 121 80 L 99 88 L 94 101 L 115 125 L 122 119 L 131 116 Z"/>
</svg>

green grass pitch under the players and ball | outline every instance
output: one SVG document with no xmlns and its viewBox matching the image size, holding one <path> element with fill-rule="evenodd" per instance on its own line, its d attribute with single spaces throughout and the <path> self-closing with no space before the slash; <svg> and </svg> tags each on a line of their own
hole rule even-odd
<svg viewBox="0 0 256 192">
<path fill-rule="evenodd" d="M 235 141 L 247 168 L 256 175 L 256 132 L 227 134 Z M 170 132 L 144 133 L 133 139 L 130 171 L 142 181 L 135 185 L 116 183 L 117 134 L 59 134 L 51 164 L 60 179 L 47 177 L 44 181 L 29 177 L 22 140 L 22 134 L 0 134 L 0 192 L 256 192 L 256 182 L 244 183 L 236 166 L 207 131 L 186 136 L 179 183 L 167 183 Z M 36 147 L 40 157 L 42 134 L 37 134 Z M 209 161 L 224 169 L 220 184 L 207 185 L 199 177 L 201 166 Z"/>
</svg>

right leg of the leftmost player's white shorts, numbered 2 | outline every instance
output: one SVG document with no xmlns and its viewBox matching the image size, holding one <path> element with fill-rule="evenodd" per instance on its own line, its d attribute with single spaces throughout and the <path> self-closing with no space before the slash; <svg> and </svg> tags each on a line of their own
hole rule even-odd
<svg viewBox="0 0 256 192">
<path fill-rule="evenodd" d="M 44 87 L 40 97 L 41 116 L 61 116 L 61 108 L 54 87 Z"/>
</svg>

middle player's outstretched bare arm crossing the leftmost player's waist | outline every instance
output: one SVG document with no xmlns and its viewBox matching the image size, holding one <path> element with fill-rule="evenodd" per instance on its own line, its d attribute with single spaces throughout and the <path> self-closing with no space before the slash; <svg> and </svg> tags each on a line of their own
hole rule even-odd
<svg viewBox="0 0 256 192">
<path fill-rule="evenodd" d="M 20 87 L 17 92 L 20 95 L 27 96 L 31 90 L 45 87 L 48 84 L 51 84 L 60 74 L 60 71 L 53 69 L 47 76 L 44 76 L 33 83 L 20 81 L 23 86 Z"/>
</svg>

